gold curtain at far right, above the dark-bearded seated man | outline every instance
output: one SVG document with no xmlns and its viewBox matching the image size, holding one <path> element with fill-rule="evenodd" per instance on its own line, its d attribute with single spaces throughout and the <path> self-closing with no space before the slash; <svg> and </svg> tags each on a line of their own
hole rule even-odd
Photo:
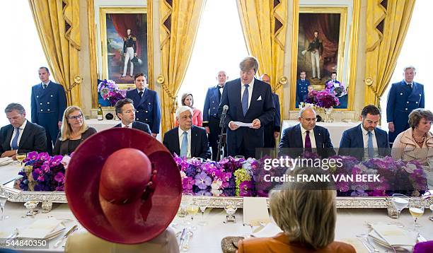
<svg viewBox="0 0 433 253">
<path fill-rule="evenodd" d="M 366 105 L 379 106 L 379 98 L 396 69 L 415 6 L 415 0 L 387 1 L 386 8 L 381 3 L 367 1 L 365 76 L 372 84 L 366 86 Z"/>
</svg>

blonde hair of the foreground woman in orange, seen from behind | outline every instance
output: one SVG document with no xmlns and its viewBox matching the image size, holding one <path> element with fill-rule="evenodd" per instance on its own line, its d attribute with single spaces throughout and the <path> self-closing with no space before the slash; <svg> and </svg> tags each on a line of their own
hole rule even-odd
<svg viewBox="0 0 433 253">
<path fill-rule="evenodd" d="M 296 174 L 306 174 L 305 171 L 299 169 Z M 270 213 L 290 242 L 320 249 L 334 241 L 336 192 L 311 189 L 311 185 L 304 184 L 307 183 L 284 184 L 282 189 L 271 192 Z"/>
</svg>

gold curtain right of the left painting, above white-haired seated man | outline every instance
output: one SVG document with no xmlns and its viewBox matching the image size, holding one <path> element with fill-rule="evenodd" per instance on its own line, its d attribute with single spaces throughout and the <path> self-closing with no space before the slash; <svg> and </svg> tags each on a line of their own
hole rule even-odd
<svg viewBox="0 0 433 253">
<path fill-rule="evenodd" d="M 190 62 L 205 0 L 161 0 L 162 133 L 174 126 L 176 96 Z M 162 77 L 162 78 L 161 78 Z"/>
</svg>

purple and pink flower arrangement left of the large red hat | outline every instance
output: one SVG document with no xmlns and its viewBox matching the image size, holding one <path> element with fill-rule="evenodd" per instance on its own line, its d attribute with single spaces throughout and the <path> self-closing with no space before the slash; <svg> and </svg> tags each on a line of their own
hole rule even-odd
<svg viewBox="0 0 433 253">
<path fill-rule="evenodd" d="M 18 175 L 23 178 L 19 185 L 24 191 L 63 192 L 64 157 L 48 153 L 30 152 L 23 160 L 24 168 Z"/>
</svg>

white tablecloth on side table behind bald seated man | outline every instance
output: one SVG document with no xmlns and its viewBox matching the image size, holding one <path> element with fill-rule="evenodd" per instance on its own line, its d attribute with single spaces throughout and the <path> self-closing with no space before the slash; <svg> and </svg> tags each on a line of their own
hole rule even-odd
<svg viewBox="0 0 433 253">
<path fill-rule="evenodd" d="M 338 148 L 340 146 L 340 140 L 343 131 L 350 129 L 354 126 L 357 126 L 361 122 L 332 122 L 332 123 L 325 123 L 325 122 L 317 122 L 317 126 L 325 127 L 328 129 L 330 134 L 330 139 L 333 143 L 334 148 Z M 284 120 L 282 124 L 282 131 L 284 129 L 287 129 L 287 127 L 293 127 L 294 125 L 299 124 L 299 121 L 297 120 Z M 281 134 L 282 136 L 282 134 Z"/>
</svg>

